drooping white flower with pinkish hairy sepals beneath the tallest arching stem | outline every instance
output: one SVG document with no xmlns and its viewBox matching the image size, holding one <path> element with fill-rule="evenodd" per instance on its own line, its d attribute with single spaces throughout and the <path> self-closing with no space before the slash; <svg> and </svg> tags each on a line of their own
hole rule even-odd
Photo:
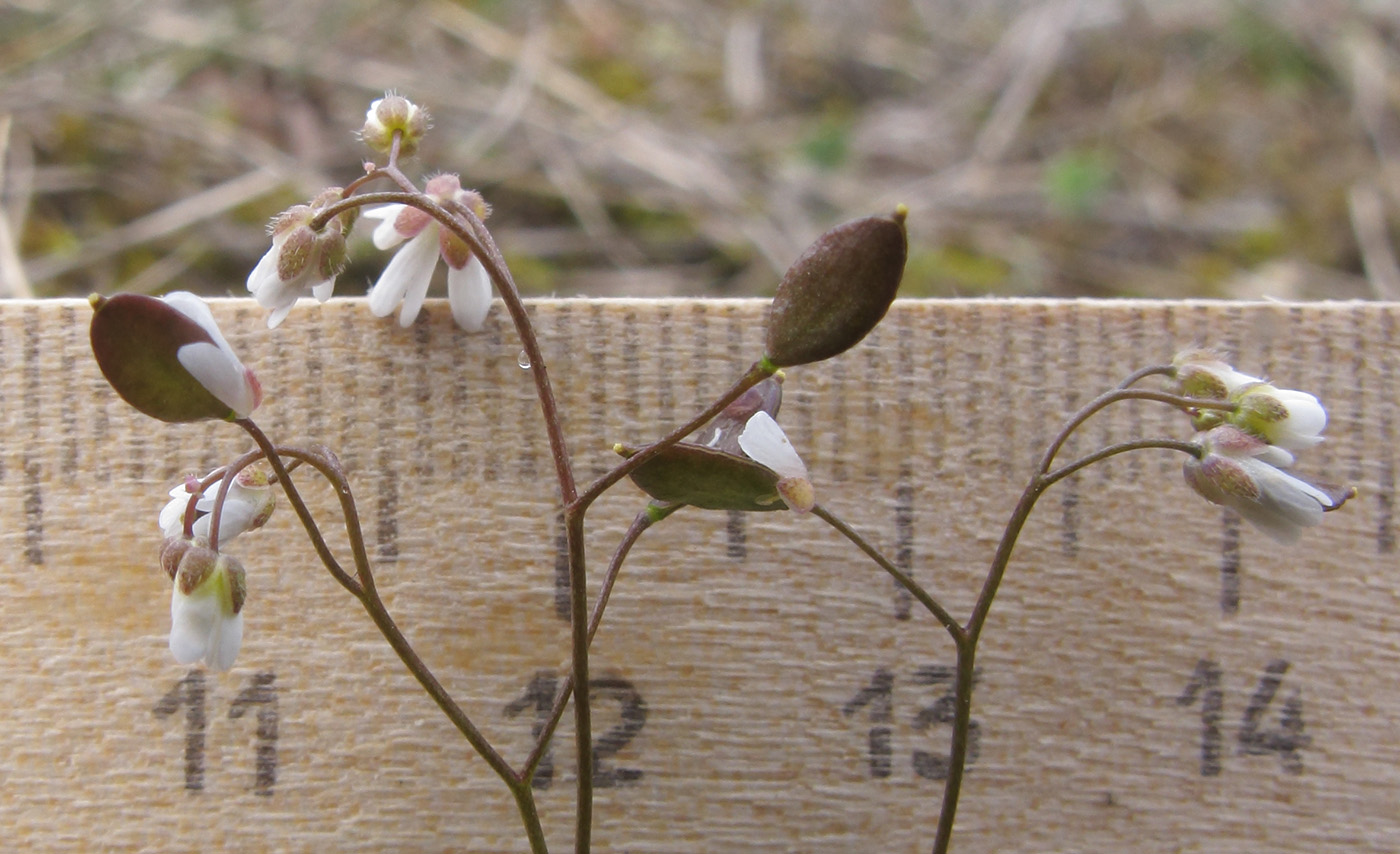
<svg viewBox="0 0 1400 854">
<path fill-rule="evenodd" d="M 462 189 L 456 175 L 433 178 L 424 192 L 440 202 L 465 204 L 482 218 L 489 213 L 477 193 Z M 370 209 L 364 216 L 381 220 L 374 230 L 374 245 L 379 249 L 407 241 L 389 259 L 370 290 L 370 311 L 375 316 L 389 316 L 402 302 L 399 325 L 412 325 L 427 298 L 437 259 L 442 258 L 447 263 L 447 298 L 452 307 L 452 318 L 468 332 L 482 329 L 491 308 L 491 277 L 461 238 L 428 214 L 405 204 Z"/>
</svg>

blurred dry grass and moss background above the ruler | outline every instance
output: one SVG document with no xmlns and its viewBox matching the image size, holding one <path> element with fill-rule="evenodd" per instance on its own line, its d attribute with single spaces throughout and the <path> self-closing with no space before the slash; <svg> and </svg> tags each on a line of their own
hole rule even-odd
<svg viewBox="0 0 1400 854">
<path fill-rule="evenodd" d="M 902 202 L 904 295 L 1400 300 L 1397 0 L 0 0 L 0 290 L 244 294 L 385 90 L 528 294 L 771 293 Z"/>
</svg>

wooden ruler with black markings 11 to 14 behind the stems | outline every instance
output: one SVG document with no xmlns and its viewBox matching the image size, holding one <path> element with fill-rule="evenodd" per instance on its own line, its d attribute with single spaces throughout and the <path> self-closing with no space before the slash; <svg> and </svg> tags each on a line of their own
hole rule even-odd
<svg viewBox="0 0 1400 854">
<path fill-rule="evenodd" d="M 759 353 L 755 301 L 532 307 L 584 476 Z M 276 333 L 216 304 L 259 423 L 353 476 L 392 612 L 519 762 L 566 672 L 561 542 L 528 374 L 501 315 L 407 330 L 356 301 Z M 319 567 L 283 507 L 248 567 L 228 673 L 165 648 L 155 515 L 249 444 L 126 407 L 83 302 L 0 305 L 0 833 L 24 851 L 524 851 L 510 798 Z M 823 504 L 955 613 L 1033 459 L 1131 370 L 1214 344 L 1317 393 L 1299 472 L 1359 497 L 1280 547 L 1187 490 L 1180 458 L 1056 487 L 983 644 L 958 851 L 1400 850 L 1400 307 L 903 302 L 860 349 L 790 371 L 783 424 Z M 1120 406 L 1070 452 L 1186 437 Z M 336 535 L 329 490 L 301 477 Z M 643 498 L 598 508 L 598 573 Z M 601 851 L 920 851 L 952 650 L 815 518 L 685 511 L 648 532 L 595 645 Z M 570 738 L 568 725 L 561 739 Z M 542 777 L 570 850 L 571 750 Z"/>
</svg>

